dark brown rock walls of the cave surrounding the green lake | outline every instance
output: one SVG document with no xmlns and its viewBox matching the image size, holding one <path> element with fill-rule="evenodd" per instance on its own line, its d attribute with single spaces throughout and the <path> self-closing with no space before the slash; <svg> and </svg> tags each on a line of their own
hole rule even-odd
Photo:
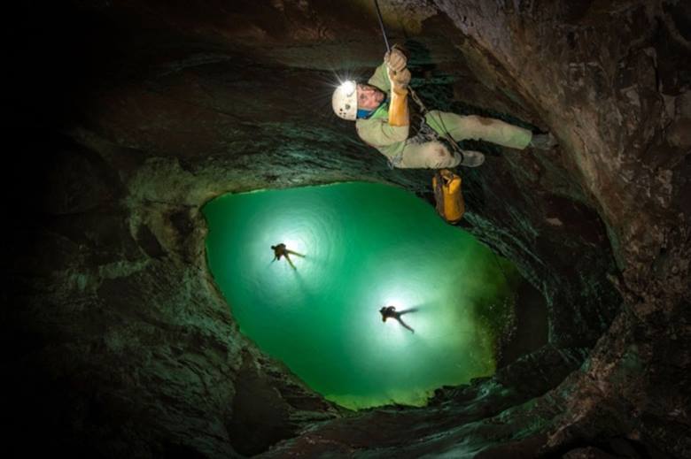
<svg viewBox="0 0 691 459">
<path fill-rule="evenodd" d="M 238 332 L 209 199 L 367 180 L 431 201 L 430 172 L 390 170 L 330 111 L 333 73 L 381 60 L 369 2 L 15 7 L 11 453 L 691 455 L 687 5 L 382 4 L 430 106 L 560 142 L 468 142 L 487 160 L 463 171 L 462 226 L 544 298 L 547 343 L 428 407 L 353 413 Z"/>
</svg>

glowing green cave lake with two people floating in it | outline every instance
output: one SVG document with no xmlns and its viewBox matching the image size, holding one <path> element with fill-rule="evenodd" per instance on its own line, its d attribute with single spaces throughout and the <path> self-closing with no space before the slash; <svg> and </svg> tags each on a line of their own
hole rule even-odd
<svg viewBox="0 0 691 459">
<path fill-rule="evenodd" d="M 240 332 L 331 402 L 424 405 L 494 373 L 514 325 L 508 260 L 397 187 L 341 183 L 222 195 L 206 257 Z M 293 269 L 274 260 L 283 242 Z M 400 319 L 385 322 L 392 305 Z"/>
</svg>

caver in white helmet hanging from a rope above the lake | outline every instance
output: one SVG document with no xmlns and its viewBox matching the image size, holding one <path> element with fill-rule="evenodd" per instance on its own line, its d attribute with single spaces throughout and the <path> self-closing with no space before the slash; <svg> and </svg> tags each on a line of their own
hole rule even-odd
<svg viewBox="0 0 691 459">
<path fill-rule="evenodd" d="M 361 140 L 379 150 L 392 167 L 444 169 L 483 164 L 485 156 L 479 151 L 460 155 L 450 148 L 443 138 L 446 132 L 454 141 L 479 139 L 513 149 L 551 149 L 556 145 L 552 134 L 532 134 L 501 119 L 477 115 L 432 110 L 415 117 L 420 123 L 417 119 L 413 123 L 408 111 L 409 82 L 408 58 L 394 45 L 367 84 L 348 80 L 331 98 L 336 115 L 355 121 Z"/>
</svg>

